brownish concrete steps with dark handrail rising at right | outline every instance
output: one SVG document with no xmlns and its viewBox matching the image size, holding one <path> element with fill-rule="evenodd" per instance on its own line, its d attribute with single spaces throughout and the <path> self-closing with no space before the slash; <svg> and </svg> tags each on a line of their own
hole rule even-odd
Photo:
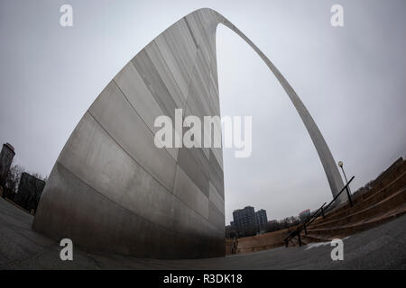
<svg viewBox="0 0 406 288">
<path fill-rule="evenodd" d="M 300 232 L 301 244 L 345 238 L 405 214 L 406 161 L 398 159 L 377 177 L 370 189 L 354 194 L 353 204 L 351 207 L 347 202 L 326 213 L 325 218 L 314 220 L 307 233 Z M 297 237 L 292 238 L 290 245 L 297 246 L 298 242 Z"/>
</svg>

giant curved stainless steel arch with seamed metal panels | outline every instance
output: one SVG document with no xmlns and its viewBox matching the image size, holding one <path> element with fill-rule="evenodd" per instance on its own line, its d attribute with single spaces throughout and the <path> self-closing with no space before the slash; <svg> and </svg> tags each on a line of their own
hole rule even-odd
<svg viewBox="0 0 406 288">
<path fill-rule="evenodd" d="M 225 255 L 221 148 L 157 148 L 157 116 L 220 115 L 216 30 L 222 23 L 263 58 L 309 131 L 334 195 L 334 158 L 291 85 L 225 17 L 199 9 L 171 25 L 106 85 L 53 166 L 33 229 L 104 252 L 155 258 Z M 173 121 L 174 122 L 174 121 Z M 221 137 L 221 135 L 215 135 Z"/>
</svg>

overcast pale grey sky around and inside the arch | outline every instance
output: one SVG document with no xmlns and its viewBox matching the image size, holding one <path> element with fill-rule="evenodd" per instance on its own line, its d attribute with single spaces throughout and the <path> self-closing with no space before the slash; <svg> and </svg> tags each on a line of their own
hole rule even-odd
<svg viewBox="0 0 406 288">
<path fill-rule="evenodd" d="M 60 26 L 60 5 L 73 27 Z M 330 7 L 344 7 L 344 27 Z M 0 1 L 0 143 L 14 162 L 49 175 L 71 131 L 125 63 L 181 17 L 210 7 L 235 24 L 281 70 L 318 124 L 352 189 L 406 156 L 406 2 Z M 224 152 L 226 223 L 246 205 L 268 219 L 331 200 L 316 149 L 262 60 L 217 29 L 223 115 L 253 116 L 253 154 Z"/>
</svg>

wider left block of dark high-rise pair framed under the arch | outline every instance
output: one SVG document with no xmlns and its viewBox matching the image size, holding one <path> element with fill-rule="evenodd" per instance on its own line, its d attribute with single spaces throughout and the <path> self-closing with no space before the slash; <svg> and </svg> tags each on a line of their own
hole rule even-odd
<svg viewBox="0 0 406 288">
<path fill-rule="evenodd" d="M 254 207 L 246 206 L 244 209 L 233 211 L 235 229 L 238 236 L 251 236 L 256 234 L 257 225 Z"/>
</svg>

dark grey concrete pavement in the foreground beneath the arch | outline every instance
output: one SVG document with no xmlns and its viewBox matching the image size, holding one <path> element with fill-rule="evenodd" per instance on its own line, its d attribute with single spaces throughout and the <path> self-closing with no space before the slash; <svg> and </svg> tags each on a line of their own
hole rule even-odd
<svg viewBox="0 0 406 288">
<path fill-rule="evenodd" d="M 0 199 L 1 269 L 405 269 L 406 215 L 344 239 L 344 260 L 332 261 L 329 243 L 279 247 L 252 254 L 157 260 L 89 252 L 74 247 L 61 261 L 59 243 L 31 228 L 32 215 Z"/>
</svg>

